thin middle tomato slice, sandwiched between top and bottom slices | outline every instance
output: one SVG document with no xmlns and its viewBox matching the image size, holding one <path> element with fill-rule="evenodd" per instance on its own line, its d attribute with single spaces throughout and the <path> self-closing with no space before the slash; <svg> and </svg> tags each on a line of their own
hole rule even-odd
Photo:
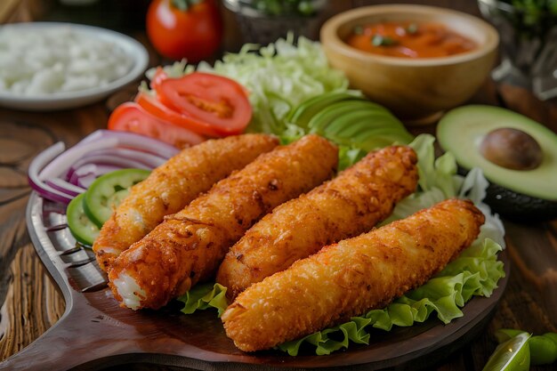
<svg viewBox="0 0 557 371">
<path fill-rule="evenodd" d="M 156 97 L 150 96 L 148 93 L 138 93 L 135 96 L 135 101 L 151 115 L 174 125 L 182 126 L 194 133 L 217 137 L 222 136 L 222 132 L 215 130 L 214 125 L 191 117 L 189 114 L 170 109 L 161 101 L 158 101 Z"/>
</svg>

